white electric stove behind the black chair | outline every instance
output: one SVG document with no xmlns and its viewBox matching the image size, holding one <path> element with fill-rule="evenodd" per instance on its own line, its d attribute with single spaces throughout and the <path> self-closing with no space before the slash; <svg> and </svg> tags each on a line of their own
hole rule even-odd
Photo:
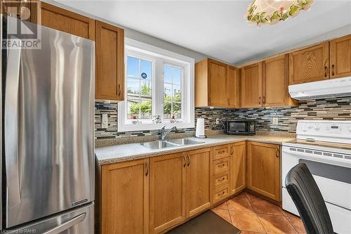
<svg viewBox="0 0 351 234">
<path fill-rule="evenodd" d="M 310 169 L 324 197 L 334 232 L 351 233 L 351 121 L 300 120 L 296 140 L 283 143 L 283 209 L 299 215 L 285 188 L 285 177 L 296 164 Z"/>
</svg>

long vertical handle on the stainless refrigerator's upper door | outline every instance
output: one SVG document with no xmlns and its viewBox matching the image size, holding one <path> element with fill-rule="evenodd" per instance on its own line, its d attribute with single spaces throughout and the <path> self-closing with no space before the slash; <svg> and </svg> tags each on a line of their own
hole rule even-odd
<svg viewBox="0 0 351 234">
<path fill-rule="evenodd" d="M 16 39 L 17 40 L 17 39 Z M 18 39 L 18 43 L 20 40 Z M 20 82 L 20 49 L 9 49 L 5 91 L 5 161 L 9 208 L 21 201 L 18 171 L 18 88 Z"/>
</svg>

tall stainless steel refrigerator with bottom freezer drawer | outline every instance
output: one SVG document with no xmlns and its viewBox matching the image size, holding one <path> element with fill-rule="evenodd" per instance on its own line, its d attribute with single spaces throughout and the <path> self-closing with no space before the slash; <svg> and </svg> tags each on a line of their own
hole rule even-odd
<svg viewBox="0 0 351 234">
<path fill-rule="evenodd" d="M 38 27 L 1 20 L 1 42 Z M 93 233 L 95 44 L 39 30 L 41 48 L 1 49 L 1 230 Z"/>
</svg>

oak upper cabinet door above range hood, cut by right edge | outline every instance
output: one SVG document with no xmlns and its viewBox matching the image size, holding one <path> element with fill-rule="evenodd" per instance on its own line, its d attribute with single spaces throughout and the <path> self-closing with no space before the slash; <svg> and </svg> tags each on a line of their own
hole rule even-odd
<svg viewBox="0 0 351 234">
<path fill-rule="evenodd" d="M 351 34 L 330 41 L 330 77 L 351 76 Z"/>
</svg>

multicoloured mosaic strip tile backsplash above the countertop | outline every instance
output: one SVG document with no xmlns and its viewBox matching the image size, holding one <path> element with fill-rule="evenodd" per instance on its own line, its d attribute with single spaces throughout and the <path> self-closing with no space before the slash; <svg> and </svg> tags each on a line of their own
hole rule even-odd
<svg viewBox="0 0 351 234">
<path fill-rule="evenodd" d="M 101 129 L 102 114 L 106 113 L 109 120 L 107 129 Z M 206 129 L 223 129 L 216 124 L 216 119 L 256 119 L 258 131 L 296 132 L 299 119 L 334 119 L 351 120 L 351 97 L 329 98 L 322 100 L 300 101 L 298 107 L 286 108 L 250 108 L 250 109 L 211 109 L 195 108 L 195 118 L 205 119 Z M 273 125 L 273 117 L 278 117 L 278 125 Z M 179 129 L 178 133 L 194 131 Z M 95 138 L 122 138 L 133 136 L 151 136 L 158 131 L 117 132 L 117 104 L 95 103 Z"/>
</svg>

